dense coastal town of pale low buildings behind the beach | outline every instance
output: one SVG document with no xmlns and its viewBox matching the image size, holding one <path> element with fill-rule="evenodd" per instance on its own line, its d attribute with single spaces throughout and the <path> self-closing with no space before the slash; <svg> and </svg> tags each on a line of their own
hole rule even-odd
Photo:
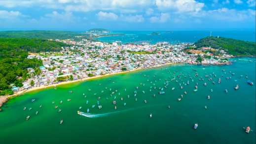
<svg viewBox="0 0 256 144">
<path fill-rule="evenodd" d="M 138 69 L 158 67 L 165 64 L 188 63 L 205 65 L 229 64 L 226 58 L 231 57 L 223 50 L 221 56 L 213 56 L 204 51 L 216 51 L 203 47 L 200 50 L 187 49 L 191 43 L 169 44 L 121 44 L 106 43 L 82 39 L 56 40 L 67 44 L 60 52 L 31 54 L 29 59 L 40 59 L 43 66 L 40 74 L 35 75 L 34 69 L 28 68 L 31 78 L 23 82 L 23 87 L 12 87 L 14 93 L 32 88 L 56 85 L 63 81 L 80 80 L 88 77 L 134 71 Z M 204 58 L 207 57 L 207 58 Z"/>
</svg>

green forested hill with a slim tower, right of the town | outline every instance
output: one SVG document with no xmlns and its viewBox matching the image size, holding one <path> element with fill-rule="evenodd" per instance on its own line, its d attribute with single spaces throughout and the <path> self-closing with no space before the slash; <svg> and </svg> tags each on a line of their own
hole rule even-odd
<svg viewBox="0 0 256 144">
<path fill-rule="evenodd" d="M 237 40 L 225 37 L 208 36 L 194 43 L 196 47 L 212 47 L 223 49 L 231 55 L 256 55 L 256 42 Z"/>
</svg>

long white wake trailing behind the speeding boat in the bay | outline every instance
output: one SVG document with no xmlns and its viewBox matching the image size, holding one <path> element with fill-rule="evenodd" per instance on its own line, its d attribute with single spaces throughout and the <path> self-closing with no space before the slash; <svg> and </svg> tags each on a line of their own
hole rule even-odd
<svg viewBox="0 0 256 144">
<path fill-rule="evenodd" d="M 103 117 L 103 116 L 108 116 L 108 115 L 111 115 L 111 114 L 117 114 L 117 113 L 121 113 L 121 112 L 125 112 L 125 111 L 130 111 L 130 110 L 135 110 L 135 109 L 140 109 L 140 108 L 146 108 L 146 107 L 155 107 L 155 106 L 144 106 L 144 107 L 138 107 L 138 108 L 129 108 L 129 109 L 125 109 L 125 110 L 112 111 L 112 112 L 100 113 L 100 114 L 92 114 L 92 113 L 85 113 L 85 112 L 77 111 L 77 114 L 85 116 L 85 117 L 90 117 L 90 118 L 92 118 L 92 117 Z"/>
</svg>

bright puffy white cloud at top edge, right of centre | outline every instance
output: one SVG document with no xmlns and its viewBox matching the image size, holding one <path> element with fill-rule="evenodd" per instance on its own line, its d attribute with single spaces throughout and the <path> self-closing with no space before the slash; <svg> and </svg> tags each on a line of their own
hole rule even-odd
<svg viewBox="0 0 256 144">
<path fill-rule="evenodd" d="M 160 10 L 177 10 L 179 12 L 198 12 L 204 7 L 204 3 L 196 0 L 156 0 L 156 6 Z"/>
</svg>

